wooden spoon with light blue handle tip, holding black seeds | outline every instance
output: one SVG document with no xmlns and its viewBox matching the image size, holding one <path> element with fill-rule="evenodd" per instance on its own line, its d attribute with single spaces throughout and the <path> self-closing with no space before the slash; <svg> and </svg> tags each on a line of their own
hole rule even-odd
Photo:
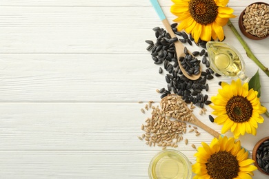
<svg viewBox="0 0 269 179">
<path fill-rule="evenodd" d="M 159 15 L 159 18 L 161 19 L 161 22 L 163 23 L 164 27 L 166 28 L 167 32 L 170 34 L 170 36 L 173 37 L 177 37 L 175 35 L 175 33 L 172 31 L 172 28 L 170 26 L 170 23 L 168 22 L 168 20 L 166 19 L 166 16 L 163 14 L 163 11 L 161 10 L 161 6 L 158 3 L 158 0 L 150 0 L 150 2 L 152 3 L 152 6 L 155 8 L 155 11 L 157 12 L 157 14 Z M 176 41 L 175 42 L 175 48 L 176 48 L 176 52 L 177 52 L 177 61 L 179 62 L 179 67 L 181 72 L 190 80 L 197 80 L 200 76 L 201 76 L 201 67 L 200 67 L 200 72 L 199 74 L 192 74 L 192 76 L 188 75 L 188 73 L 186 72 L 186 70 L 182 67 L 180 61 L 179 61 L 179 57 L 180 56 L 186 56 L 186 54 L 184 53 L 184 45 L 180 42 L 180 41 Z M 189 54 L 190 51 L 188 51 Z"/>
</svg>

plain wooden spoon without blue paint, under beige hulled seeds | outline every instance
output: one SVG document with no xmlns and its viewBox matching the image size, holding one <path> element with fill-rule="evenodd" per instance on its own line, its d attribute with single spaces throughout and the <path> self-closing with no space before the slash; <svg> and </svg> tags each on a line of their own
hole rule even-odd
<svg viewBox="0 0 269 179">
<path fill-rule="evenodd" d="M 177 94 L 171 94 L 171 95 L 168 95 L 166 97 L 163 97 L 161 99 L 161 107 L 162 107 L 162 103 L 164 100 L 166 100 L 169 96 L 175 96 L 175 97 L 178 97 Z M 188 106 L 186 105 L 186 103 L 182 100 L 182 103 L 184 105 L 184 107 L 186 109 L 189 109 Z M 189 111 L 189 114 L 192 115 L 192 120 L 190 121 L 187 121 L 188 123 L 192 123 L 193 125 L 197 125 L 198 127 L 201 127 L 201 129 L 204 129 L 205 131 L 207 131 L 209 134 L 211 134 L 212 136 L 214 136 L 215 138 L 219 138 L 219 136 L 221 134 L 219 134 L 219 132 L 215 131 L 214 129 L 211 129 L 210 127 L 208 127 L 207 125 L 205 125 L 204 123 L 201 122 L 201 120 L 199 120 L 195 114 L 192 114 L 191 111 Z M 185 122 L 185 120 L 184 120 Z"/>
</svg>

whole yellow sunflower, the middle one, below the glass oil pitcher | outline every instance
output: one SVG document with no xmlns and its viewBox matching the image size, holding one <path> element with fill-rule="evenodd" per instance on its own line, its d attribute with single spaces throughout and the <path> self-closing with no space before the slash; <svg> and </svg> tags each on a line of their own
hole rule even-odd
<svg viewBox="0 0 269 179">
<path fill-rule="evenodd" d="M 248 89 L 248 83 L 241 85 L 240 79 L 228 83 L 221 83 L 217 96 L 212 96 L 210 107 L 214 109 L 212 114 L 216 115 L 215 123 L 223 125 L 221 134 L 229 129 L 234 137 L 238 138 L 245 133 L 256 135 L 257 123 L 263 123 L 260 114 L 266 112 L 266 107 L 261 106 L 258 92 Z"/>
</svg>

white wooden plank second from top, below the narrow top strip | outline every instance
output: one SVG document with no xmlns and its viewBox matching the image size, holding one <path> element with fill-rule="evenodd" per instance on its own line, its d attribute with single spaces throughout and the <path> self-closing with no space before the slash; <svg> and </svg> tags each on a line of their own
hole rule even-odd
<svg viewBox="0 0 269 179">
<path fill-rule="evenodd" d="M 170 8 L 164 12 L 172 23 Z M 237 19 L 232 21 L 238 29 Z M 150 7 L 6 7 L 0 11 L 0 22 L 0 54 L 141 54 L 141 43 L 155 38 L 152 28 L 163 27 Z M 226 27 L 225 32 L 226 42 L 244 54 L 231 30 Z M 255 54 L 268 50 L 266 40 L 247 42 Z"/>
</svg>

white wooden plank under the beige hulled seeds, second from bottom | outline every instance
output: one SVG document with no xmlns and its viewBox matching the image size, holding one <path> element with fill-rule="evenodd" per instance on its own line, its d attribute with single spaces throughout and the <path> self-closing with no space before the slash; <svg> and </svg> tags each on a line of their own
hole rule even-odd
<svg viewBox="0 0 269 179">
<path fill-rule="evenodd" d="M 139 103 L 0 103 L 0 151 L 4 150 L 94 150 L 94 151 L 145 151 L 159 150 L 149 147 L 137 136 L 151 110 L 142 114 Z M 155 106 L 158 104 L 155 104 Z M 267 107 L 269 103 L 265 103 Z M 128 112 L 126 112 L 128 111 Z M 220 131 L 221 126 L 211 123 L 208 114 L 195 115 L 206 125 Z M 240 138 L 248 150 L 263 136 L 268 136 L 269 120 L 259 125 L 257 136 Z M 184 134 L 189 144 L 210 143 L 212 136 L 199 129 L 200 136 Z M 227 136 L 231 136 L 228 132 Z M 251 141 L 251 142 L 250 142 Z M 192 150 L 190 145 L 179 143 L 179 149 Z"/>
</svg>

